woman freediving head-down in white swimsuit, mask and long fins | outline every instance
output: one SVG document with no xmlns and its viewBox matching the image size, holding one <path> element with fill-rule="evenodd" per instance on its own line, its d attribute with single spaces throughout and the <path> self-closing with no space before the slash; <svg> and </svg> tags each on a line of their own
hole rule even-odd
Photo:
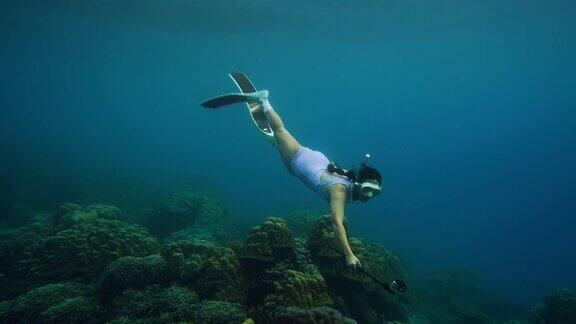
<svg viewBox="0 0 576 324">
<path fill-rule="evenodd" d="M 236 76 L 245 78 L 241 74 Z M 231 75 L 234 79 L 235 76 Z M 235 80 L 235 82 L 237 82 Z M 238 82 L 237 82 L 238 84 Z M 251 84 L 250 84 L 251 85 Z M 268 91 L 261 90 L 253 92 L 233 93 L 218 96 L 202 103 L 207 108 L 219 108 L 224 105 L 246 102 L 251 108 L 251 114 L 264 114 L 270 129 L 260 127 L 261 131 L 273 133 L 273 138 L 280 153 L 282 161 L 286 165 L 288 172 L 299 178 L 306 186 L 318 193 L 330 203 L 330 213 L 334 221 L 338 243 L 346 257 L 346 264 L 356 268 L 361 266 L 360 260 L 354 255 L 344 228 L 344 206 L 348 202 L 367 202 L 377 196 L 381 190 L 382 177 L 378 170 L 366 165 L 366 159 L 362 162 L 358 174 L 344 170 L 330 162 L 324 154 L 302 146 L 284 126 L 284 122 L 270 105 Z M 256 111 L 260 110 L 261 111 Z M 256 121 L 256 119 L 255 119 Z M 271 130 L 271 131 L 270 131 Z"/>
</svg>

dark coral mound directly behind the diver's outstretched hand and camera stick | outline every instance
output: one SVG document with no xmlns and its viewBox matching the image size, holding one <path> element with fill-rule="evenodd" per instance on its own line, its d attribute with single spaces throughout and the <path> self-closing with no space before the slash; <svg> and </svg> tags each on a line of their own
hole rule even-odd
<svg viewBox="0 0 576 324">
<path fill-rule="evenodd" d="M 393 296 L 363 272 L 349 268 L 337 251 L 330 216 L 323 216 L 314 225 L 308 239 L 311 259 L 326 278 L 333 294 L 341 296 L 337 305 L 362 323 L 380 323 L 386 320 L 407 321 L 410 298 Z M 350 238 L 350 247 L 362 262 L 364 271 L 381 282 L 395 279 L 408 280 L 400 260 L 378 244 L 365 244 Z"/>
</svg>

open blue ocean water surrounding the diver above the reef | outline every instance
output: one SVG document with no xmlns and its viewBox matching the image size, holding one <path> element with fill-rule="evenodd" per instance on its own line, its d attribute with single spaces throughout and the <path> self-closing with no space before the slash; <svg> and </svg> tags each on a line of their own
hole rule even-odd
<svg viewBox="0 0 576 324">
<path fill-rule="evenodd" d="M 576 288 L 571 1 L 0 6 L 4 209 L 74 200 L 89 178 L 118 204 L 213 189 L 251 224 L 327 211 L 243 106 L 199 107 L 242 71 L 302 144 L 344 166 L 372 155 L 384 192 L 349 207 L 351 233 L 384 242 L 415 278 L 469 268 L 525 306 Z"/>
</svg>

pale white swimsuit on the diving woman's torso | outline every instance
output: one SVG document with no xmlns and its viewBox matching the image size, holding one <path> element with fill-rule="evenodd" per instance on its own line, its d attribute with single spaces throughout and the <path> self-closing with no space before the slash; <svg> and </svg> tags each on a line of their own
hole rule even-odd
<svg viewBox="0 0 576 324">
<path fill-rule="evenodd" d="M 288 170 L 302 180 L 308 188 L 314 190 L 326 201 L 330 201 L 328 189 L 335 184 L 346 187 L 346 202 L 352 201 L 352 180 L 339 174 L 328 172 L 330 161 L 324 154 L 302 147 L 292 158 Z"/>
</svg>

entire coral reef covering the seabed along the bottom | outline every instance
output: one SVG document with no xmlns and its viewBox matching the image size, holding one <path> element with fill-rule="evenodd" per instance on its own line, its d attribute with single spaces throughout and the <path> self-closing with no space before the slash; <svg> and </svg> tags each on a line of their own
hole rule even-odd
<svg viewBox="0 0 576 324">
<path fill-rule="evenodd" d="M 330 216 L 269 217 L 243 240 L 206 192 L 178 192 L 141 227 L 110 205 L 63 204 L 0 231 L 0 323 L 524 323 L 461 270 L 390 294 L 346 267 Z M 147 230 L 146 228 L 149 228 Z M 296 233 L 296 235 L 294 235 Z M 378 281 L 408 273 L 382 245 L 350 238 Z M 567 290 L 536 306 L 536 323 L 571 323 Z"/>
</svg>

